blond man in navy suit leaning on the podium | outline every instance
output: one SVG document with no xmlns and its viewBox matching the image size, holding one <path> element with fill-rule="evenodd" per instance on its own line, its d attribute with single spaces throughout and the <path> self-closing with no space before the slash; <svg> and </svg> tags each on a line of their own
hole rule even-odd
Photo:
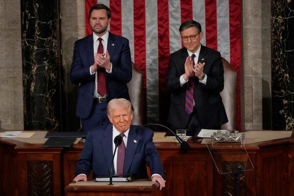
<svg viewBox="0 0 294 196">
<path fill-rule="evenodd" d="M 120 135 L 123 141 L 114 156 L 112 174 L 131 173 L 137 178 L 146 179 L 147 165 L 152 181 L 157 181 L 160 189 L 165 187 L 160 156 L 152 141 L 153 131 L 143 126 L 131 125 L 131 102 L 124 98 L 112 99 L 108 103 L 107 114 L 112 124 L 88 131 L 73 180 L 87 181 L 91 169 L 93 177 L 109 176 L 115 149 L 114 139 Z"/>
</svg>

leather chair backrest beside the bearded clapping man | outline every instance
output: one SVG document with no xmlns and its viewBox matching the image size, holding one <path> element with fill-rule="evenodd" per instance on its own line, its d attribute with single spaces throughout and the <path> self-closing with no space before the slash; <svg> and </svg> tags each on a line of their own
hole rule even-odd
<svg viewBox="0 0 294 196">
<path fill-rule="evenodd" d="M 132 62 L 132 79 L 126 85 L 134 109 L 132 124 L 135 125 L 144 123 L 143 77 L 143 72 L 137 70 L 136 65 Z"/>
</svg>

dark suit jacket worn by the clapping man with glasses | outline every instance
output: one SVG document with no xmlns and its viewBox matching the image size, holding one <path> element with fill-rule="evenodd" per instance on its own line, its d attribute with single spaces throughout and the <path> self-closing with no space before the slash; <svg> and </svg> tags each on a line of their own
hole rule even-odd
<svg viewBox="0 0 294 196">
<path fill-rule="evenodd" d="M 171 93 L 168 123 L 178 128 L 185 128 L 189 120 L 185 111 L 187 83 L 182 87 L 180 85 L 180 76 L 185 73 L 187 56 L 186 48 L 172 53 L 167 74 L 167 90 Z M 224 82 L 221 54 L 201 45 L 198 62 L 205 62 L 203 72 L 207 75 L 207 81 L 204 85 L 197 77 L 192 78 L 195 82 L 195 109 L 201 128 L 213 128 L 228 122 L 220 95 Z"/>
</svg>

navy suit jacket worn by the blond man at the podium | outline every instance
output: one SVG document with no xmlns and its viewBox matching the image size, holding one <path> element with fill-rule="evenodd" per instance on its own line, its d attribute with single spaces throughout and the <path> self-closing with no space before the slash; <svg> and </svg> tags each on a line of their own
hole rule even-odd
<svg viewBox="0 0 294 196">
<path fill-rule="evenodd" d="M 76 164 L 75 175 L 84 173 L 88 176 L 91 169 L 93 169 L 93 177 L 110 175 L 113 156 L 112 126 L 109 124 L 88 131 L 83 151 Z M 137 125 L 130 126 L 124 158 L 124 173 L 136 174 L 137 178 L 148 178 L 147 165 L 151 174 L 157 173 L 164 178 L 160 157 L 152 138 L 153 131 L 150 129 Z"/>
</svg>

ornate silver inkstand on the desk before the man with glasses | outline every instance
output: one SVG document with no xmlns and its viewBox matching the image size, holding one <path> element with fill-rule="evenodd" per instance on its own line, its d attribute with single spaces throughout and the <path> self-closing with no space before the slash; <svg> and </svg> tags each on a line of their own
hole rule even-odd
<svg viewBox="0 0 294 196">
<path fill-rule="evenodd" d="M 245 132 L 239 133 L 237 130 L 233 130 L 234 132 L 231 132 L 229 130 L 226 130 L 225 133 L 222 133 L 220 130 L 217 132 L 214 132 L 211 135 L 211 142 L 212 144 L 218 143 L 218 142 L 240 142 L 242 144 L 245 144 Z"/>
</svg>

